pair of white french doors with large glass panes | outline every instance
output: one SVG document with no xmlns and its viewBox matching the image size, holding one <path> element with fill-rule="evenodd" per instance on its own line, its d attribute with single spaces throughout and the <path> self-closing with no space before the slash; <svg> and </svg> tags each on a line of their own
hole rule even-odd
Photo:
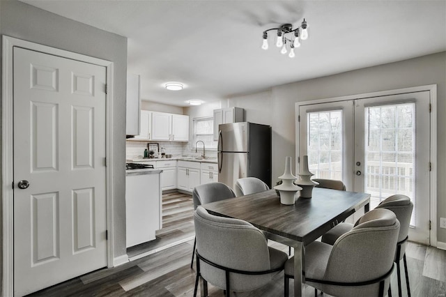
<svg viewBox="0 0 446 297">
<path fill-rule="evenodd" d="M 429 106 L 429 91 L 300 105 L 298 156 L 308 155 L 315 178 L 369 193 L 370 209 L 394 194 L 410 197 L 409 238 L 429 244 Z"/>
</svg>

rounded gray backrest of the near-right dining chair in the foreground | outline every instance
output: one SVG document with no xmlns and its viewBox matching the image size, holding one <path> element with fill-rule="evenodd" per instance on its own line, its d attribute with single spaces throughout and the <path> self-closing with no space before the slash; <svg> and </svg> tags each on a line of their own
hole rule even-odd
<svg viewBox="0 0 446 297">
<path fill-rule="evenodd" d="M 382 277 L 392 269 L 398 234 L 399 221 L 392 211 L 369 211 L 334 243 L 324 280 L 364 282 Z M 390 275 L 383 284 L 386 292 Z M 334 296 L 378 296 L 380 291 L 380 282 L 360 287 L 323 286 L 324 292 Z"/>
</svg>

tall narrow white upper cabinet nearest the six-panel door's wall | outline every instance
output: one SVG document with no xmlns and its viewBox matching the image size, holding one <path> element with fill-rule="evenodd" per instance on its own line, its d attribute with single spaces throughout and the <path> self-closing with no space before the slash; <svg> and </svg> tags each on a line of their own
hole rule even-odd
<svg viewBox="0 0 446 297">
<path fill-rule="evenodd" d="M 125 125 L 126 135 L 139 135 L 139 110 L 141 109 L 141 96 L 139 75 L 127 76 L 127 118 Z"/>
</svg>

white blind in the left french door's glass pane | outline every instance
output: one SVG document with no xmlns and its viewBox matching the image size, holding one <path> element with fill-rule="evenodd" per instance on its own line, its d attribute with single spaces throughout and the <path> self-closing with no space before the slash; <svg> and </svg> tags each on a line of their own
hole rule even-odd
<svg viewBox="0 0 446 297">
<path fill-rule="evenodd" d="M 342 180 L 342 110 L 307 113 L 307 155 L 315 178 Z"/>
</svg>

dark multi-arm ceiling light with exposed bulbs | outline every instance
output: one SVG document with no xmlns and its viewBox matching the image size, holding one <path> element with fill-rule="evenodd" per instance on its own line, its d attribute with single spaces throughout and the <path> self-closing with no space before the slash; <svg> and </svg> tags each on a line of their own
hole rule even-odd
<svg viewBox="0 0 446 297">
<path fill-rule="evenodd" d="M 296 29 L 293 29 L 292 24 L 282 24 L 279 28 L 271 28 L 263 31 L 263 50 L 268 50 L 268 31 L 277 30 L 277 41 L 276 46 L 282 47 L 280 51 L 282 54 L 288 52 L 287 47 L 289 47 L 289 57 L 294 58 L 294 49 L 300 47 L 300 40 L 306 40 L 308 38 L 307 22 L 304 21 Z"/>
</svg>

